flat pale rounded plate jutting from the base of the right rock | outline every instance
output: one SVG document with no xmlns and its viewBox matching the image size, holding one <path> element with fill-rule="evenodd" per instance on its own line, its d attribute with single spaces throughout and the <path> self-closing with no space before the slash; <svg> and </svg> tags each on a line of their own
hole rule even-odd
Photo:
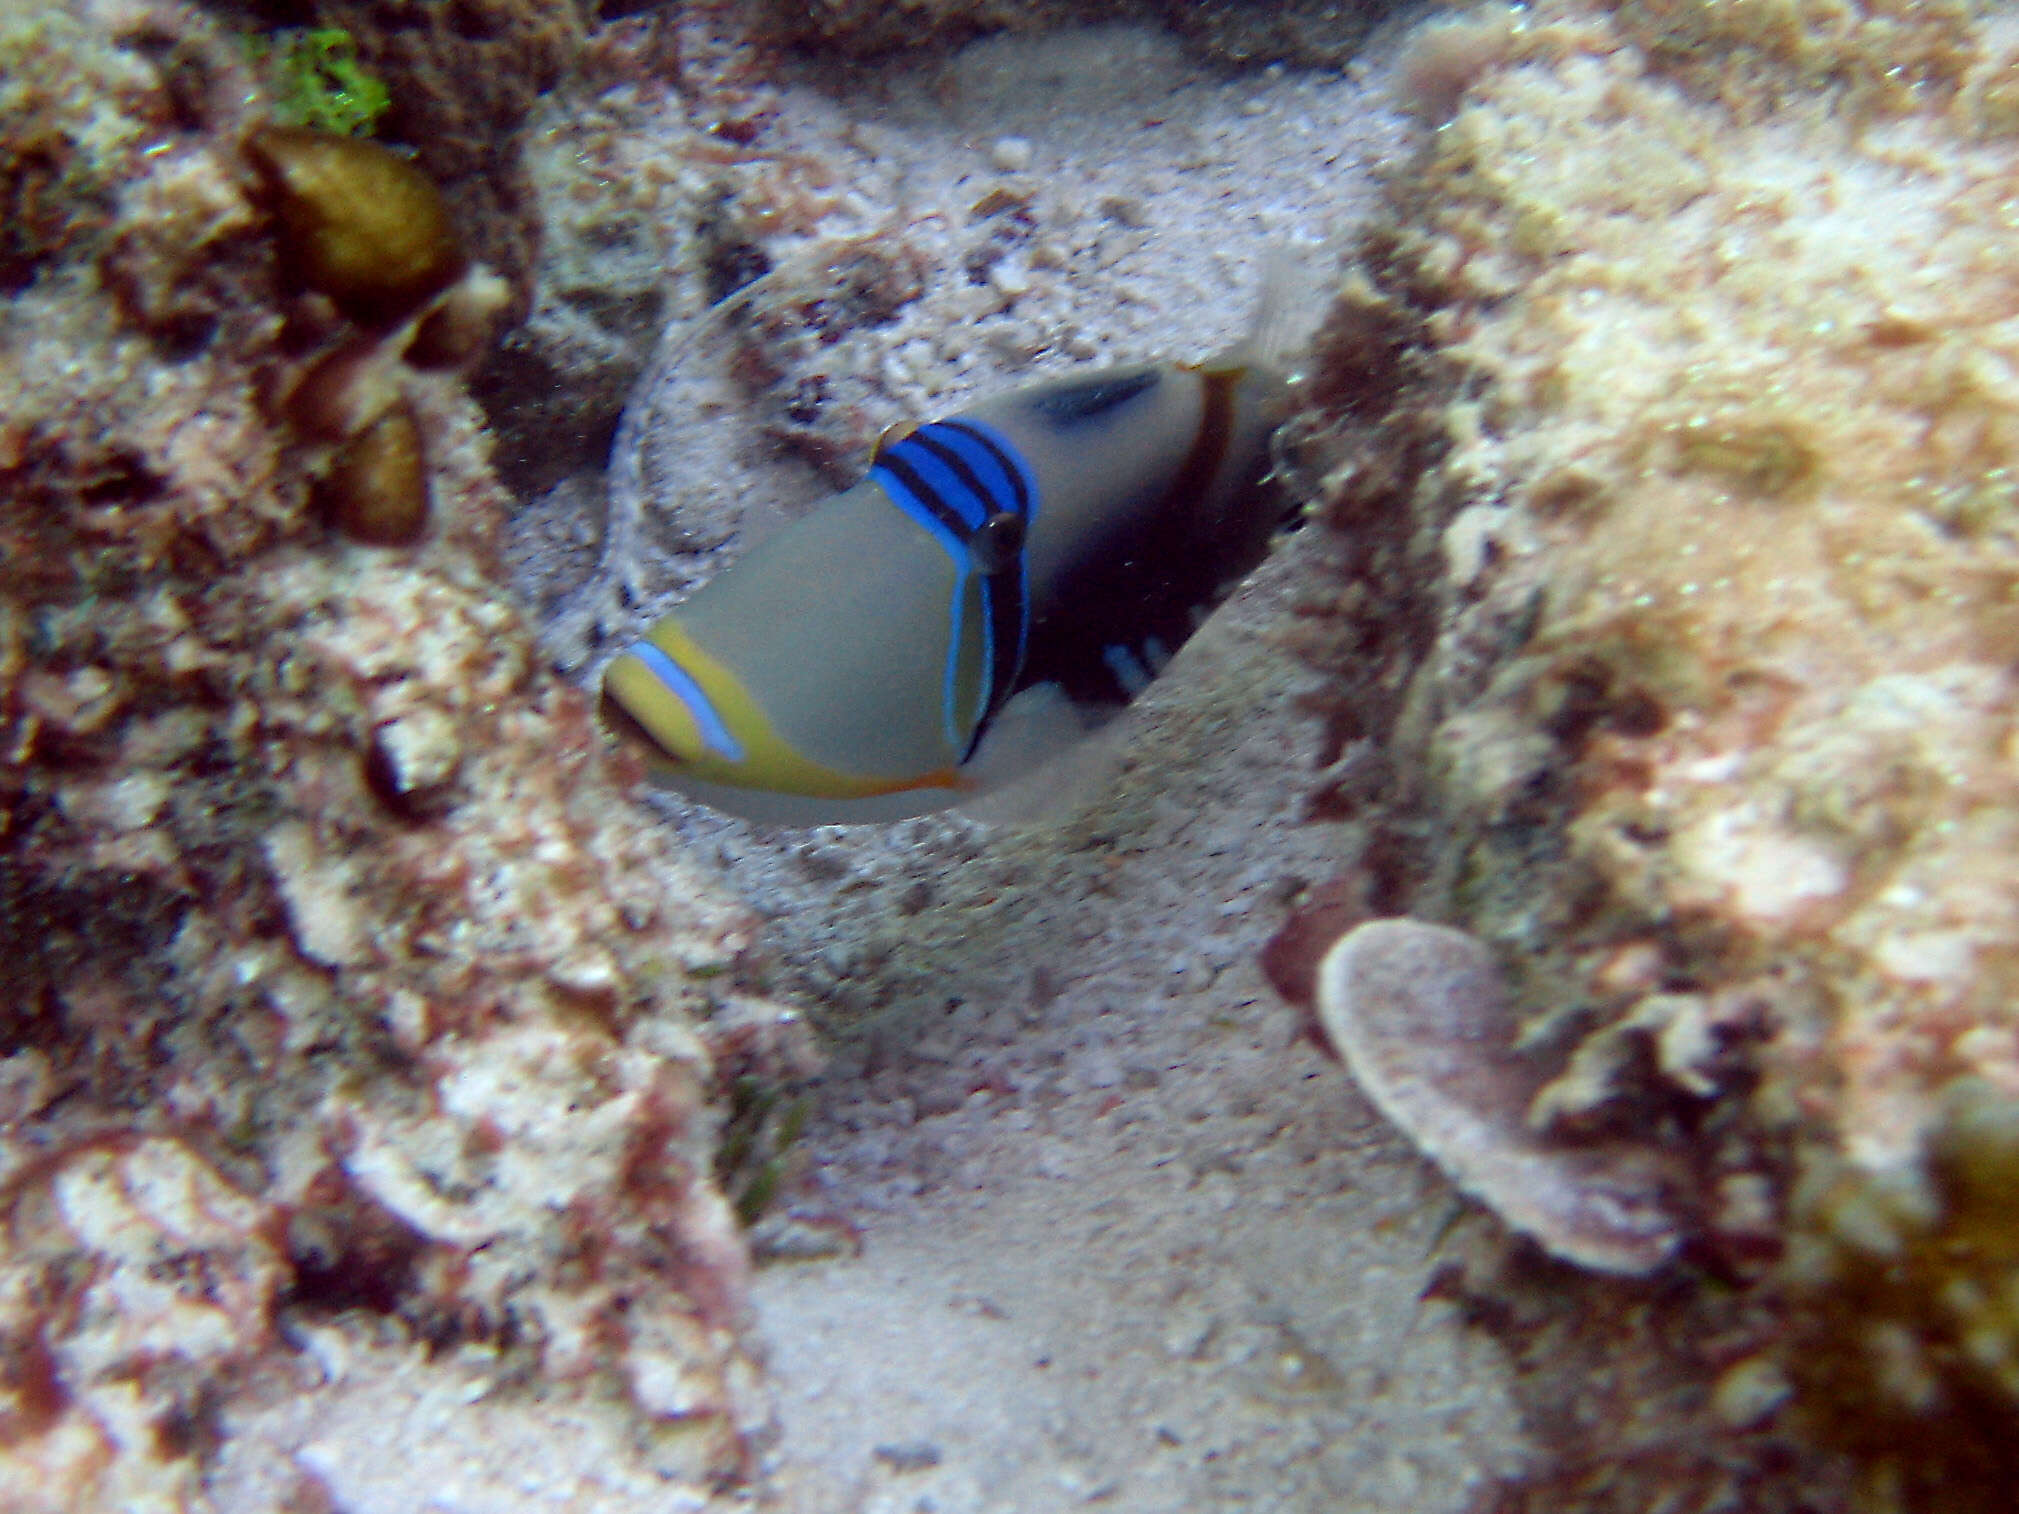
<svg viewBox="0 0 2019 1514">
<path fill-rule="evenodd" d="M 1484 945 L 1421 921 L 1369 921 L 1318 967 L 1318 1019 L 1375 1106 L 1458 1185 L 1545 1252 L 1643 1276 L 1682 1233 L 1652 1151 L 1528 1128 L 1534 1074 Z"/>
</svg>

